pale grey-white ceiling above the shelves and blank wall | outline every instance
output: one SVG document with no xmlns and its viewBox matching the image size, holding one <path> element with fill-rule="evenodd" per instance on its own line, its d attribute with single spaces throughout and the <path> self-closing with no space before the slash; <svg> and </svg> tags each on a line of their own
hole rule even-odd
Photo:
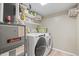
<svg viewBox="0 0 79 59">
<path fill-rule="evenodd" d="M 28 4 L 26 3 L 26 5 Z M 31 3 L 31 9 L 42 16 L 47 16 L 59 11 L 68 10 L 75 5 L 75 3 L 48 3 L 42 6 L 40 3 Z"/>
</svg>

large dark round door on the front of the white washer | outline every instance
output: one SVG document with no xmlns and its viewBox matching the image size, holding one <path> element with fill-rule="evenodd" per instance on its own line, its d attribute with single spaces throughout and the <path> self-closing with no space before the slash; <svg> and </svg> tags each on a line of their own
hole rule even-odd
<svg viewBox="0 0 79 59">
<path fill-rule="evenodd" d="M 35 46 L 35 56 L 43 56 L 46 50 L 46 40 L 44 37 L 40 37 Z"/>
</svg>

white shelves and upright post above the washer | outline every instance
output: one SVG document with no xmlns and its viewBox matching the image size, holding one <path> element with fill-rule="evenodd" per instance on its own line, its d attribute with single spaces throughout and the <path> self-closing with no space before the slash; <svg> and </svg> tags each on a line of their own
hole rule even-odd
<svg viewBox="0 0 79 59">
<path fill-rule="evenodd" d="M 23 6 L 23 5 L 22 5 Z M 25 7 L 25 6 L 24 6 Z M 33 15 L 31 15 L 31 14 L 28 14 L 27 16 L 26 16 L 27 18 L 29 18 L 29 19 L 33 19 L 33 20 L 37 20 L 38 19 L 38 17 L 36 17 L 36 16 L 33 16 Z M 40 16 L 41 17 L 41 16 Z M 20 19 L 20 16 L 19 16 L 19 3 L 16 3 L 16 18 L 17 18 L 17 20 L 16 21 L 18 21 L 18 23 L 21 23 L 22 25 L 26 25 L 26 24 L 30 24 L 30 25 L 40 25 L 40 24 L 38 24 L 38 23 L 35 23 L 35 22 L 33 22 L 33 21 L 22 21 L 21 19 Z"/>
</svg>

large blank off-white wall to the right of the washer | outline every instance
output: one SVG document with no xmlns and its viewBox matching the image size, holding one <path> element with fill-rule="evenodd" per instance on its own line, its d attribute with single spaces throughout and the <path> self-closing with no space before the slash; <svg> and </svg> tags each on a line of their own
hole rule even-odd
<svg viewBox="0 0 79 59">
<path fill-rule="evenodd" d="M 66 15 L 43 19 L 41 24 L 48 28 L 53 37 L 54 48 L 76 52 L 76 20 Z"/>
</svg>

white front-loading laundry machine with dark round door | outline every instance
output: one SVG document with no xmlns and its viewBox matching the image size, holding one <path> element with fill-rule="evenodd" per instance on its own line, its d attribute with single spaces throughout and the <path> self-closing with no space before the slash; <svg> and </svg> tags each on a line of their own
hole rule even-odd
<svg viewBox="0 0 79 59">
<path fill-rule="evenodd" d="M 49 33 L 27 34 L 27 55 L 46 56 L 51 50 L 51 37 Z"/>
</svg>

